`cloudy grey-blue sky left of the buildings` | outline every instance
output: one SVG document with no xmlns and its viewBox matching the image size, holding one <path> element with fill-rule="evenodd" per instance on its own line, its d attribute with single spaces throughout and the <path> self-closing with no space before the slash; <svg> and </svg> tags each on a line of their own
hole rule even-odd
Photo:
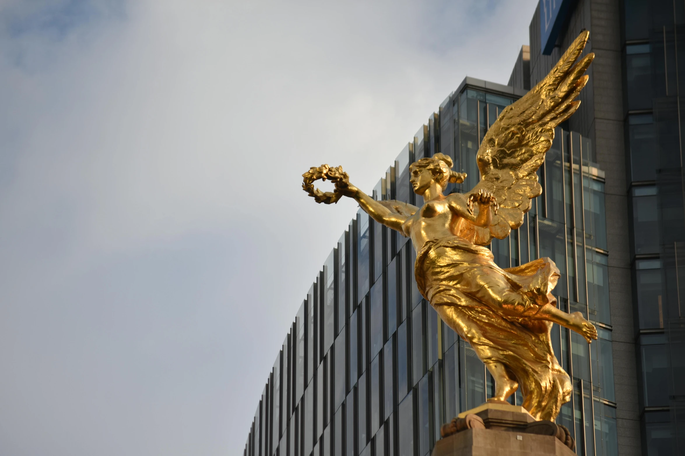
<svg viewBox="0 0 685 456">
<path fill-rule="evenodd" d="M 535 0 L 0 0 L 0 454 L 238 455 L 356 213 Z"/>
</svg>

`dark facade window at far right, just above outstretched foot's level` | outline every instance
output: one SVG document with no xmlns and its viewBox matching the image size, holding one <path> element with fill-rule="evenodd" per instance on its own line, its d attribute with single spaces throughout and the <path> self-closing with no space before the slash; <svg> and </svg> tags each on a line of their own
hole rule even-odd
<svg viewBox="0 0 685 456">
<path fill-rule="evenodd" d="M 640 328 L 664 327 L 664 303 L 662 301 L 661 260 L 637 260 L 635 262 L 635 286 L 638 297 Z"/>
</svg>

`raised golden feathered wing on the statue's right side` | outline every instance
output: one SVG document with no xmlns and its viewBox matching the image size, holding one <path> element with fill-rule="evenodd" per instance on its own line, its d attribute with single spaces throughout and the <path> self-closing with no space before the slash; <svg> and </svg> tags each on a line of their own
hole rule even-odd
<svg viewBox="0 0 685 456">
<path fill-rule="evenodd" d="M 499 211 L 490 226 L 493 237 L 504 239 L 512 228 L 519 228 L 531 199 L 543 192 L 536 172 L 552 144 L 554 129 L 580 105 L 574 98 L 588 81 L 584 72 L 595 54 L 575 61 L 589 35 L 580 33 L 547 77 L 503 109 L 483 138 L 476 156 L 482 177 L 470 193 L 483 189 L 497 198 Z"/>
</svg>

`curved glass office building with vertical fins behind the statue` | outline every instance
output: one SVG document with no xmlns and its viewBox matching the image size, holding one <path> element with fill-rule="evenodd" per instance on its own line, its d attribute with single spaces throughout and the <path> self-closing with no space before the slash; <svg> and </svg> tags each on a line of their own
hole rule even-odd
<svg viewBox="0 0 685 456">
<path fill-rule="evenodd" d="M 410 163 L 436 152 L 478 179 L 475 154 L 501 110 L 525 90 L 466 78 L 386 170 L 373 197 L 420 205 Z M 562 125 L 540 168 L 543 196 L 519 230 L 491 245 L 501 267 L 549 256 L 562 271 L 560 308 L 594 321 L 599 340 L 554 325 L 553 347 L 573 379 L 558 422 L 577 453 L 617 455 L 604 218 L 605 173 L 587 137 Z M 416 199 L 419 201 L 416 201 Z M 493 379 L 473 349 L 423 299 L 415 252 L 358 211 L 323 263 L 284 338 L 249 429 L 245 456 L 425 456 L 440 426 L 483 403 Z M 512 403 L 520 404 L 516 393 Z"/>
</svg>

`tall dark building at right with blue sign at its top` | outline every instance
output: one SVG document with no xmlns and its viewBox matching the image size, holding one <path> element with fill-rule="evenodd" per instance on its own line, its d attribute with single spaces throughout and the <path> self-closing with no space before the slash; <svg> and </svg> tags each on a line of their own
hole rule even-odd
<svg viewBox="0 0 685 456">
<path fill-rule="evenodd" d="M 685 3 L 540 1 L 510 85 L 530 89 L 582 29 L 597 58 L 568 123 L 606 172 L 619 454 L 685 455 Z"/>
</svg>

